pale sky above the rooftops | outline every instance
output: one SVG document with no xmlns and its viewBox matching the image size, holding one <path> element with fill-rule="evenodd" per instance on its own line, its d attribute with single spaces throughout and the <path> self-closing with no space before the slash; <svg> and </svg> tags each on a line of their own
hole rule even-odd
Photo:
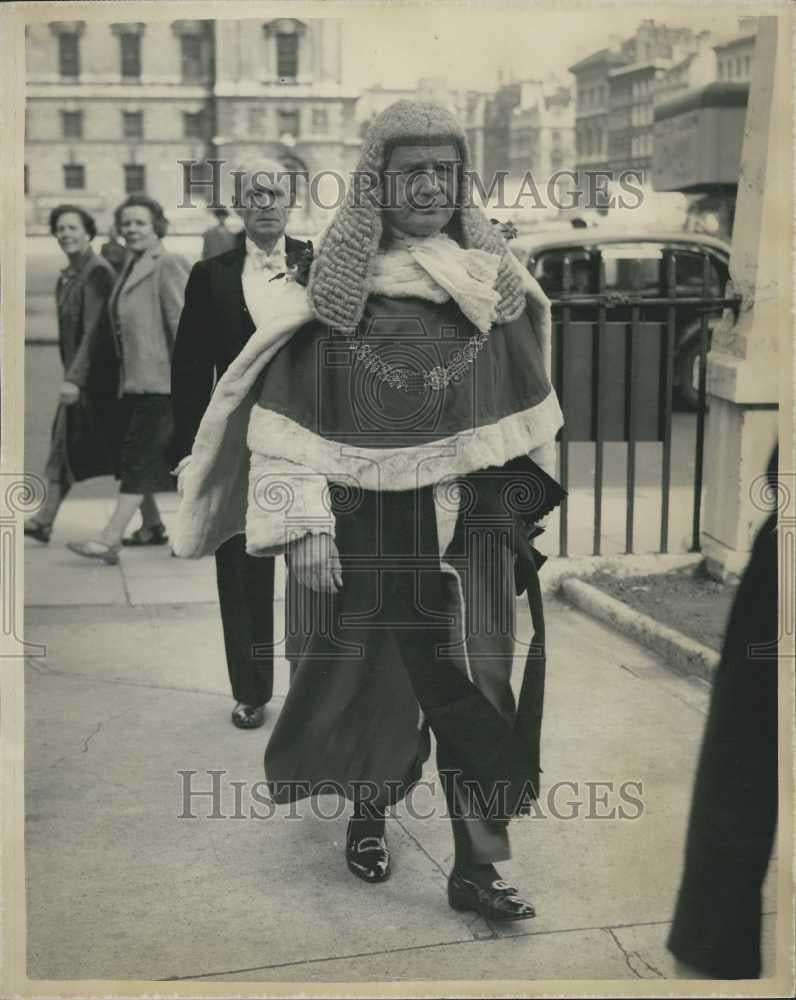
<svg viewBox="0 0 796 1000">
<path fill-rule="evenodd" d="M 724 4 L 698 9 L 590 4 L 556 11 L 532 2 L 359 7 L 345 19 L 344 81 L 357 89 L 379 83 L 412 88 L 421 76 L 445 76 L 454 88 L 494 90 L 501 68 L 504 82 L 553 72 L 566 81 L 568 66 L 610 44 L 612 34 L 629 37 L 644 17 L 731 35 L 732 15 Z"/>
</svg>

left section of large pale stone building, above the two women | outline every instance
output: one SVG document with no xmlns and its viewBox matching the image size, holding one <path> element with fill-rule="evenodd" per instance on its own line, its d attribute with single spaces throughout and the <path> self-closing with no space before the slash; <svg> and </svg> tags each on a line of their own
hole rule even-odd
<svg viewBox="0 0 796 1000">
<path fill-rule="evenodd" d="M 63 201 L 106 228 L 139 191 L 178 223 L 177 160 L 204 159 L 213 134 L 211 22 L 54 21 L 26 36 L 29 229 Z"/>
</svg>

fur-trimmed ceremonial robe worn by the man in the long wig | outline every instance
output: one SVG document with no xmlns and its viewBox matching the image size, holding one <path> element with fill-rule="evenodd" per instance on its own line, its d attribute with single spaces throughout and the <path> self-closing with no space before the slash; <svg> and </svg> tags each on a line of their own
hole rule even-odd
<svg viewBox="0 0 796 1000">
<path fill-rule="evenodd" d="M 293 332 L 307 318 L 295 285 L 216 388 L 185 472 L 177 553 L 211 550 L 245 516 L 249 552 L 328 532 L 343 566 L 337 595 L 289 580 L 288 656 L 298 670 L 266 751 L 278 801 L 353 796 L 361 781 L 400 797 L 428 753 L 423 720 L 463 776 L 460 798 L 467 782 L 487 800 L 500 785 L 505 820 L 536 794 L 544 626 L 528 528 L 562 494 L 527 456 L 549 453 L 561 411 L 548 375 L 549 308 L 535 283 L 526 287 L 527 313 L 493 326 L 462 382 L 432 397 L 439 410 L 422 426 L 411 419 L 416 399 L 374 384 L 398 423 L 374 433 L 357 422 L 370 390 L 323 324 Z M 387 323 L 379 347 L 405 346 L 402 330 L 415 324 L 443 363 L 476 332 L 452 300 L 374 296 L 366 312 L 370 335 L 371 321 Z M 414 340 L 422 355 L 423 335 Z M 523 589 L 534 641 L 517 703 L 514 594 Z"/>
</svg>

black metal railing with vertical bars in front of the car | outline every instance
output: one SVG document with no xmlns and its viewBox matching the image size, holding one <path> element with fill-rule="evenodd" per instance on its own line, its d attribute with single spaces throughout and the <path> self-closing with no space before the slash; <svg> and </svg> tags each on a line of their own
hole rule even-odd
<svg viewBox="0 0 796 1000">
<path fill-rule="evenodd" d="M 572 261 L 568 256 L 562 259 L 562 292 L 560 296 L 551 299 L 553 311 L 554 338 L 554 369 L 553 383 L 558 392 L 565 423 L 559 433 L 560 445 L 560 480 L 564 489 L 569 488 L 569 445 L 570 437 L 567 429 L 567 413 L 577 405 L 577 400 L 568 396 L 566 384 L 567 352 L 573 345 L 572 325 L 573 309 L 580 314 L 578 322 L 596 326 L 596 336 L 592 337 L 591 345 L 591 436 L 594 441 L 594 523 L 592 552 L 601 554 L 603 526 L 603 478 L 604 478 L 604 435 L 601 415 L 601 393 L 605 386 L 603 350 L 606 344 L 608 324 L 622 323 L 625 327 L 624 343 L 624 437 L 611 440 L 624 440 L 627 443 L 626 489 L 627 511 L 625 517 L 625 552 L 633 553 L 635 534 L 636 507 L 636 450 L 637 425 L 640 413 L 640 401 L 635 391 L 638 370 L 634 366 L 634 355 L 639 347 L 641 336 L 641 313 L 657 310 L 654 322 L 660 325 L 662 349 L 660 352 L 660 396 L 658 398 L 658 437 L 662 442 L 661 457 L 661 523 L 660 552 L 669 549 L 669 512 L 671 492 L 671 461 L 672 461 L 672 393 L 674 389 L 674 360 L 677 346 L 678 311 L 690 309 L 699 317 L 699 360 L 698 360 L 698 404 L 696 412 L 696 454 L 694 467 L 694 499 L 691 524 L 691 551 L 700 549 L 700 521 L 702 513 L 703 460 L 705 448 L 705 418 L 707 411 L 707 354 L 710 340 L 709 319 L 718 315 L 723 309 L 732 309 L 737 317 L 740 306 L 740 296 L 717 296 L 711 294 L 713 278 L 712 262 L 707 252 L 702 253 L 702 288 L 699 295 L 678 296 L 676 283 L 676 260 L 672 250 L 663 251 L 663 290 L 662 295 L 642 295 L 640 288 L 640 262 L 631 261 L 631 294 L 618 294 L 606 289 L 605 261 L 598 252 L 592 255 L 596 265 L 596 292 L 579 293 L 572 290 Z M 629 310 L 629 317 L 627 312 Z M 592 313 L 591 316 L 584 311 Z M 616 313 L 620 312 L 619 319 Z M 647 321 L 646 325 L 649 325 Z M 649 440 L 649 438 L 648 438 Z M 568 502 L 565 498 L 561 505 L 559 521 L 559 555 L 568 555 Z"/>
</svg>

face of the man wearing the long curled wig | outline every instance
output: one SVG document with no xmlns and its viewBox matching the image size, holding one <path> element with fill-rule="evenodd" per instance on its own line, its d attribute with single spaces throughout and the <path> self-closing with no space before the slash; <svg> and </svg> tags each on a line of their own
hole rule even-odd
<svg viewBox="0 0 796 1000">
<path fill-rule="evenodd" d="M 384 171 L 384 220 L 409 236 L 433 236 L 456 208 L 456 147 L 396 146 Z"/>
</svg>

